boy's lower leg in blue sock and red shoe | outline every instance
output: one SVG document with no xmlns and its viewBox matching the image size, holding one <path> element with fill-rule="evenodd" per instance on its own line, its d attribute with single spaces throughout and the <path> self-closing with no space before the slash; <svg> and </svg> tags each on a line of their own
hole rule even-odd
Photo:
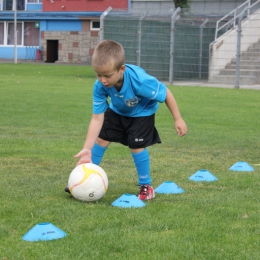
<svg viewBox="0 0 260 260">
<path fill-rule="evenodd" d="M 147 149 L 131 149 L 135 167 L 138 175 L 138 185 L 140 185 L 139 199 L 150 200 L 155 197 L 151 186 L 150 176 L 150 156 Z"/>
</svg>

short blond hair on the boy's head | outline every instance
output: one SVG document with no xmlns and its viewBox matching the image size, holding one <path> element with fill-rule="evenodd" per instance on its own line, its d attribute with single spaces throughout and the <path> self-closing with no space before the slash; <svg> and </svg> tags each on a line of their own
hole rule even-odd
<svg viewBox="0 0 260 260">
<path fill-rule="evenodd" d="M 92 67 L 114 66 L 119 70 L 125 64 L 125 52 L 122 45 L 115 41 L 101 41 L 92 56 Z"/>
</svg>

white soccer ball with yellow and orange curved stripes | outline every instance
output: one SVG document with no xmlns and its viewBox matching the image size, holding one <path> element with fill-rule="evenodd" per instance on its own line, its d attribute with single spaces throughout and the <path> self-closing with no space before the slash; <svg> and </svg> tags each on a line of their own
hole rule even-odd
<svg viewBox="0 0 260 260">
<path fill-rule="evenodd" d="M 76 166 L 70 173 L 68 187 L 71 195 L 81 201 L 96 201 L 101 199 L 108 188 L 105 171 L 93 163 Z"/>
</svg>

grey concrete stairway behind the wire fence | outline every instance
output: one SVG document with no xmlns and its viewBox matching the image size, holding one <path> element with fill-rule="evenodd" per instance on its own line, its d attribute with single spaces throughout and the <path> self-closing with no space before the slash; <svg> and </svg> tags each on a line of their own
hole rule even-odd
<svg viewBox="0 0 260 260">
<path fill-rule="evenodd" d="M 235 84 L 236 59 L 211 78 L 210 83 Z M 240 85 L 260 84 L 260 41 L 253 44 L 240 57 Z"/>
</svg>

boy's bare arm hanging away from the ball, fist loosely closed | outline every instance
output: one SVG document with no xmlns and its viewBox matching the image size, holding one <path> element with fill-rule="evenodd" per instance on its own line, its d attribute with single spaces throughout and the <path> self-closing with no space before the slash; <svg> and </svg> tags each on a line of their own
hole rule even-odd
<svg viewBox="0 0 260 260">
<path fill-rule="evenodd" d="M 167 92 L 166 92 L 165 103 L 173 116 L 176 133 L 179 136 L 185 135 L 187 133 L 186 123 L 182 119 L 181 113 L 179 111 L 175 98 L 168 88 L 167 88 Z"/>
</svg>

